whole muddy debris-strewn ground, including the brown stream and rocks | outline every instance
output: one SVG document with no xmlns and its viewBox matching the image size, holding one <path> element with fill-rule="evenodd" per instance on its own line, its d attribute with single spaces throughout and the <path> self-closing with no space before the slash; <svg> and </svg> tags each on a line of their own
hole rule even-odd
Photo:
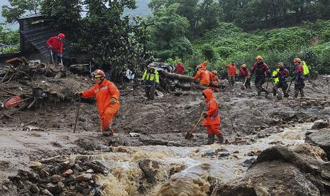
<svg viewBox="0 0 330 196">
<path fill-rule="evenodd" d="M 306 82 L 304 98 L 257 99 L 241 82 L 215 93 L 227 143 L 206 129 L 185 139 L 206 103 L 202 90 L 145 98 L 139 82 L 116 84 L 114 136 L 101 136 L 88 76 L 43 64 L 3 73 L 0 195 L 330 195 L 330 82 Z M 269 85 L 269 89 L 271 85 Z M 270 175 L 271 174 L 271 175 Z"/>
</svg>

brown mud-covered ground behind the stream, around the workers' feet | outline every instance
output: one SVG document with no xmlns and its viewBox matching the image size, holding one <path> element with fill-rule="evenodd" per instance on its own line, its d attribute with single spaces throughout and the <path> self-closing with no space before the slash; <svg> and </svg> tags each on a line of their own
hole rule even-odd
<svg viewBox="0 0 330 196">
<path fill-rule="evenodd" d="M 27 83 L 27 84 L 26 84 Z M 143 97 L 143 87 L 136 84 L 117 84 L 121 90 L 121 109 L 114 119 L 114 136 L 104 137 L 99 132 L 99 118 L 94 101 L 83 100 L 77 132 L 74 134 L 75 115 L 78 107 L 74 92 L 92 86 L 88 77 L 69 75 L 55 79 L 37 76 L 33 81 L 1 84 L 1 89 L 21 94 L 31 94 L 31 86 L 48 92 L 59 92 L 65 100 L 40 100 L 29 110 L 18 111 L 13 119 L 0 121 L 0 193 L 15 195 L 16 188 L 8 181 L 18 169 L 28 168 L 32 160 L 59 155 L 90 154 L 107 146 L 201 146 L 207 141 L 202 126 L 194 140 L 185 140 L 205 109 L 200 90 L 160 93 L 154 101 Z M 29 87 L 30 86 L 30 87 Z M 269 85 L 270 89 L 271 85 Z M 241 83 L 233 89 L 227 87 L 216 93 L 221 115 L 221 130 L 231 143 L 253 143 L 256 138 L 280 131 L 297 123 L 329 119 L 329 77 L 306 82 L 303 99 L 277 101 L 255 97 L 252 91 L 242 90 Z M 0 92 L 0 102 L 8 97 Z M 42 103 L 42 104 L 41 104 Z M 11 114 L 15 109 L 1 111 Z M 2 116 L 2 115 L 1 115 Z M 29 129 L 36 130 L 29 130 Z M 24 131 L 25 130 L 25 131 Z M 141 134 L 130 137 L 129 133 Z"/>
</svg>

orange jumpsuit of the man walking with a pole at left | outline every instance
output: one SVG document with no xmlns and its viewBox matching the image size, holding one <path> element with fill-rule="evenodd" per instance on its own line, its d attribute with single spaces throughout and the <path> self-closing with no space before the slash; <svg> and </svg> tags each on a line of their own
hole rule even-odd
<svg viewBox="0 0 330 196">
<path fill-rule="evenodd" d="M 119 111 L 119 94 L 116 85 L 106 79 L 100 85 L 95 84 L 92 89 L 82 92 L 84 98 L 95 97 L 97 99 L 102 131 L 109 127 L 110 122 Z M 111 104 L 111 98 L 116 99 L 115 104 Z"/>
</svg>

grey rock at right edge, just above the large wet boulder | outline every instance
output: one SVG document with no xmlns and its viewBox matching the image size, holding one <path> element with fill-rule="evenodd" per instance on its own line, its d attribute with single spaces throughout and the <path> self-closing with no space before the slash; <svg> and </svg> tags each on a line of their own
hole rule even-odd
<svg viewBox="0 0 330 196">
<path fill-rule="evenodd" d="M 306 136 L 306 143 L 319 146 L 324 150 L 328 160 L 330 160 L 330 129 L 319 129 Z"/>
</svg>

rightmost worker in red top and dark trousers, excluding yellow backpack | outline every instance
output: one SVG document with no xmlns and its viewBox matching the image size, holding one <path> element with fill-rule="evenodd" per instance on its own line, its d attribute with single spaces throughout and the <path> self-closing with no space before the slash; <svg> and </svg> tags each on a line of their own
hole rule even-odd
<svg viewBox="0 0 330 196">
<path fill-rule="evenodd" d="M 299 92 L 300 96 L 304 97 L 304 68 L 302 67 L 302 60 L 295 58 L 293 63 L 295 63 L 295 98 L 298 97 Z"/>
</svg>

